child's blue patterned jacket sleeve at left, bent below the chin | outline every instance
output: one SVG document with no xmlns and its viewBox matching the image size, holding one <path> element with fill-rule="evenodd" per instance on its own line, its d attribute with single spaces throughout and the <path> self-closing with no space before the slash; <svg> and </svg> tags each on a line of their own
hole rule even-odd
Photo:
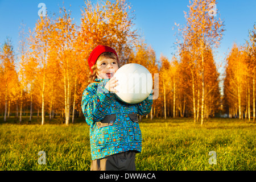
<svg viewBox="0 0 256 182">
<path fill-rule="evenodd" d="M 106 110 L 110 108 L 110 93 L 103 84 L 90 84 L 82 94 L 82 112 L 86 123 L 92 125 L 101 121 L 106 115 Z"/>
</svg>

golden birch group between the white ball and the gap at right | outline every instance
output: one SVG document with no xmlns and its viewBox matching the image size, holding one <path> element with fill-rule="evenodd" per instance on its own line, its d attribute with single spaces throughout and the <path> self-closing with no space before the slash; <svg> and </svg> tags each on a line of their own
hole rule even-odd
<svg viewBox="0 0 256 182">
<path fill-rule="evenodd" d="M 222 38 L 224 23 L 218 12 L 210 14 L 210 3 L 216 2 L 189 1 L 186 24 L 178 25 L 177 55 L 171 64 L 162 57 L 160 68 L 164 108 L 172 102 L 173 117 L 192 116 L 194 122 L 200 118 L 201 125 L 205 118 L 214 117 L 221 104 L 220 73 L 213 51 Z"/>
</svg>

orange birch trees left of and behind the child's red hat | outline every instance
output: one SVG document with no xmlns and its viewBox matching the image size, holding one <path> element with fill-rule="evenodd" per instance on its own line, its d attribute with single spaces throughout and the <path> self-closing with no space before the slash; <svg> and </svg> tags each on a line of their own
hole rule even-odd
<svg viewBox="0 0 256 182">
<path fill-rule="evenodd" d="M 80 25 L 73 23 L 65 7 L 58 15 L 39 18 L 28 33 L 22 25 L 17 53 L 9 39 L 1 47 L 0 108 L 4 121 L 16 112 L 21 122 L 22 110 L 30 108 L 30 115 L 41 113 L 42 125 L 46 111 L 50 119 L 54 113 L 64 113 L 68 125 L 70 113 L 81 111 L 82 92 L 88 85 L 87 59 L 93 48 L 108 45 L 115 48 L 122 64 L 130 59 L 139 36 L 130 9 L 125 0 L 96 5 L 87 1 Z"/>
</svg>

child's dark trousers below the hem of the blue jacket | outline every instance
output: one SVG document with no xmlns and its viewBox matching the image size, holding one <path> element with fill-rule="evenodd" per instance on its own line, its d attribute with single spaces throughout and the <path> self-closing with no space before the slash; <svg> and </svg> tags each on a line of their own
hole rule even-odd
<svg viewBox="0 0 256 182">
<path fill-rule="evenodd" d="M 90 171 L 136 171 L 135 154 L 127 151 L 92 160 Z"/>
</svg>

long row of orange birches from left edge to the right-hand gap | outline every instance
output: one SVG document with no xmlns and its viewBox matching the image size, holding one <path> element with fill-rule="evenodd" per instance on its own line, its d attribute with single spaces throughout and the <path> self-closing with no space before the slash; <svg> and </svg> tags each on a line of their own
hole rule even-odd
<svg viewBox="0 0 256 182">
<path fill-rule="evenodd" d="M 18 50 L 14 51 L 8 38 L 0 49 L 0 114 L 8 121 L 13 113 L 22 122 L 26 110 L 30 120 L 33 113 L 40 114 L 42 125 L 46 113 L 50 120 L 57 114 L 65 118 L 66 125 L 74 122 L 76 114 L 82 115 L 88 56 L 104 44 L 117 51 L 122 65 L 138 63 L 153 77 L 159 74 L 158 87 L 155 84 L 159 97 L 147 117 L 193 117 L 203 125 L 204 118 L 214 117 L 221 101 L 213 49 L 220 43 L 224 24 L 209 15 L 209 3 L 189 3 L 187 23 L 177 31 L 172 60 L 164 55 L 156 59 L 154 49 L 138 34 L 126 0 L 86 1 L 79 25 L 65 7 L 58 15 L 39 18 L 28 32 L 22 24 Z"/>
</svg>

